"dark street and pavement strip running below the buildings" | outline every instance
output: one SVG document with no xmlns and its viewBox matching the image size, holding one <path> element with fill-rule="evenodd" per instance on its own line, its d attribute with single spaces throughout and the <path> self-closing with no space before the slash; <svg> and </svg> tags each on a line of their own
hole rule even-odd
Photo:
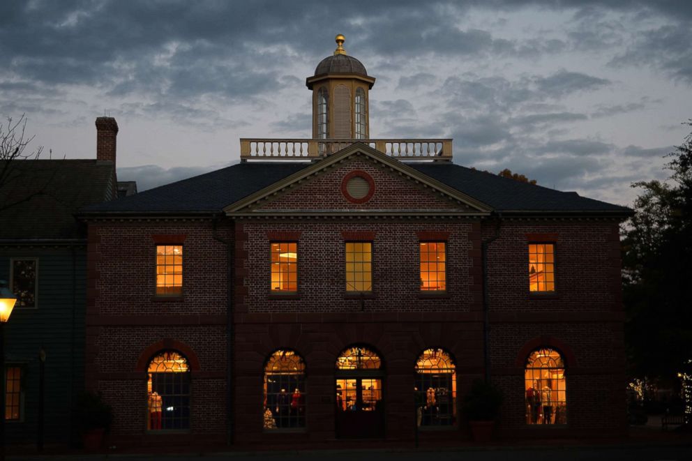
<svg viewBox="0 0 692 461">
<path fill-rule="evenodd" d="M 113 447 L 99 453 L 66 451 L 46 447 L 7 447 L 8 460 L 232 460 L 232 461 L 692 461 L 692 430 L 662 431 L 655 423 L 631 428 L 629 437 L 597 440 L 496 441 L 488 446 L 472 442 L 457 445 L 352 446 L 326 444 L 314 450 L 278 448 L 250 451 L 247 447 L 146 447 L 125 450 Z M 262 448 L 262 447 L 257 447 Z M 266 448 L 266 447 L 265 447 Z"/>
</svg>

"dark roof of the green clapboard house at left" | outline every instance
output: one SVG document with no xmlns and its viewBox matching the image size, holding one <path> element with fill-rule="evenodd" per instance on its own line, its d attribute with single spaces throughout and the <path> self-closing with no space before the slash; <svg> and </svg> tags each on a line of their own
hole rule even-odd
<svg viewBox="0 0 692 461">
<path fill-rule="evenodd" d="M 112 197 L 114 166 L 99 160 L 0 161 L 0 239 L 84 237 L 75 213 Z"/>
</svg>

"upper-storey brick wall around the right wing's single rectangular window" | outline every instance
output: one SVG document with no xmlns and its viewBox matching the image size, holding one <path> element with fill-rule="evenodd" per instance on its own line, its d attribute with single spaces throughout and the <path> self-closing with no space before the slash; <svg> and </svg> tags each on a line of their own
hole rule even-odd
<svg viewBox="0 0 692 461">
<path fill-rule="evenodd" d="M 483 227 L 483 238 L 495 229 L 492 224 Z M 529 294 L 527 234 L 557 234 L 554 296 Z M 619 251 L 617 222 L 505 220 L 488 250 L 492 310 L 622 310 Z"/>
</svg>

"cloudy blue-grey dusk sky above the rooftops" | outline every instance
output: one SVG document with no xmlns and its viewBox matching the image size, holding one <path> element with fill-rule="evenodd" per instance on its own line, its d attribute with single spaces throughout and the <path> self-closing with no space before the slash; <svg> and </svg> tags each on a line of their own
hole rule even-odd
<svg viewBox="0 0 692 461">
<path fill-rule="evenodd" d="M 237 163 L 240 137 L 311 137 L 337 33 L 377 78 L 370 137 L 451 137 L 460 165 L 631 205 L 689 133 L 690 0 L 3 0 L 0 117 L 95 158 L 114 116 L 141 191 Z"/>
</svg>

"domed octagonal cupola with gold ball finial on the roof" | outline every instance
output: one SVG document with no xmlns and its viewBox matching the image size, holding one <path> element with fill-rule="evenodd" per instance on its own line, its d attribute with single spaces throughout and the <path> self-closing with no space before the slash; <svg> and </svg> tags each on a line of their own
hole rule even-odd
<svg viewBox="0 0 692 461">
<path fill-rule="evenodd" d="M 336 50 L 317 64 L 306 79 L 313 90 L 313 139 L 368 139 L 368 91 L 375 77 L 344 50 L 345 37 L 336 36 Z"/>
</svg>

